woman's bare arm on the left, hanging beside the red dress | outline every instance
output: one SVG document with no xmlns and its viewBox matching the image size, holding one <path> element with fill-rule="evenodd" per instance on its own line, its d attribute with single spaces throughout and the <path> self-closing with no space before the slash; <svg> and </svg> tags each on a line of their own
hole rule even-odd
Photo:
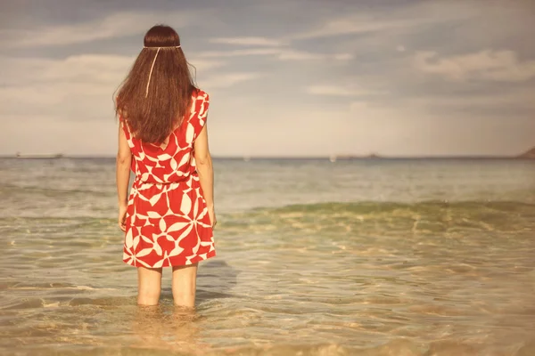
<svg viewBox="0 0 535 356">
<path fill-rule="evenodd" d="M 128 146 L 127 136 L 122 128 L 123 123 L 119 123 L 119 150 L 116 159 L 116 182 L 117 196 L 119 198 L 119 228 L 126 230 L 125 219 L 128 206 L 128 182 L 130 182 L 130 163 L 132 162 L 132 152 Z"/>
</svg>

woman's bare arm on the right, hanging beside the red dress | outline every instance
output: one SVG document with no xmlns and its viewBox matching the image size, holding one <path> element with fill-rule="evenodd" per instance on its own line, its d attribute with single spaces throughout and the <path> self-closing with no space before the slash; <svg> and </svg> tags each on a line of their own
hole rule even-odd
<svg viewBox="0 0 535 356">
<path fill-rule="evenodd" d="M 202 127 L 201 133 L 193 143 L 195 166 L 199 174 L 199 181 L 201 182 L 204 200 L 208 206 L 208 214 L 210 214 L 210 222 L 212 227 L 216 226 L 217 219 L 214 209 L 214 170 L 208 148 L 208 130 L 207 125 Z"/>
</svg>

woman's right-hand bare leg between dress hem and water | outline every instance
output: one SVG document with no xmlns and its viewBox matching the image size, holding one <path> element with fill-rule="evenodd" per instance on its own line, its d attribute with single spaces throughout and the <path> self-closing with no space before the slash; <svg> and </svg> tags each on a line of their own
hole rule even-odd
<svg viewBox="0 0 535 356">
<path fill-rule="evenodd" d="M 195 290 L 197 288 L 197 265 L 173 267 L 173 300 L 175 305 L 193 308 L 195 306 Z"/>
</svg>

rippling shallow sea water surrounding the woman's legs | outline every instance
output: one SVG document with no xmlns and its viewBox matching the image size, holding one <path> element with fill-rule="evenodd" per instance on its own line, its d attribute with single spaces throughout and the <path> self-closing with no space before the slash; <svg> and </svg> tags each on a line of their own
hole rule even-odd
<svg viewBox="0 0 535 356">
<path fill-rule="evenodd" d="M 535 161 L 214 165 L 186 313 L 136 306 L 113 159 L 0 158 L 0 354 L 535 355 Z"/>
</svg>

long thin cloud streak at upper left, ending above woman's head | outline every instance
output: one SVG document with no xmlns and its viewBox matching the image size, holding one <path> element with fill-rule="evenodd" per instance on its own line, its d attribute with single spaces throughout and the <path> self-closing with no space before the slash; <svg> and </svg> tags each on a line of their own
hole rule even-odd
<svg viewBox="0 0 535 356">
<path fill-rule="evenodd" d="M 185 27 L 197 17 L 195 12 L 118 12 L 97 20 L 70 25 L 3 29 L 0 30 L 0 42 L 13 48 L 80 44 L 143 34 L 153 25 L 166 20 Z"/>
</svg>

